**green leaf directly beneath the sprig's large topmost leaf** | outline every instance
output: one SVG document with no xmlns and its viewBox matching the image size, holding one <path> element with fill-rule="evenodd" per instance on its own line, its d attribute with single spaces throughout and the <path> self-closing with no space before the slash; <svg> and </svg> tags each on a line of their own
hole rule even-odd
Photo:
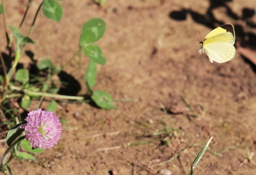
<svg viewBox="0 0 256 175">
<path fill-rule="evenodd" d="M 85 55 L 92 59 L 97 64 L 104 65 L 106 63 L 106 58 L 102 56 L 101 48 L 97 45 L 86 45 L 83 47 Z"/>
</svg>

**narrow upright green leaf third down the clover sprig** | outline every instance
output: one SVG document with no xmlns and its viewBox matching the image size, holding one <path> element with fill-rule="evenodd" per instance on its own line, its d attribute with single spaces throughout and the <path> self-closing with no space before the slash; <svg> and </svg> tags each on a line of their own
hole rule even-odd
<svg viewBox="0 0 256 175">
<path fill-rule="evenodd" d="M 85 79 L 86 84 L 91 89 L 95 83 L 96 83 L 96 75 L 97 75 L 97 67 L 95 62 L 90 60 L 88 67 L 86 69 L 86 73 L 83 76 L 83 79 Z"/>
</svg>

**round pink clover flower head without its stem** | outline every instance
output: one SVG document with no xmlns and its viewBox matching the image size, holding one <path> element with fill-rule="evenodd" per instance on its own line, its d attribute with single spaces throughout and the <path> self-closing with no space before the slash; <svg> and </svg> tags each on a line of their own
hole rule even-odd
<svg viewBox="0 0 256 175">
<path fill-rule="evenodd" d="M 61 123 L 58 117 L 51 111 L 30 111 L 25 119 L 26 124 L 20 128 L 24 129 L 25 139 L 33 148 L 47 149 L 57 144 L 61 136 Z"/>
</svg>

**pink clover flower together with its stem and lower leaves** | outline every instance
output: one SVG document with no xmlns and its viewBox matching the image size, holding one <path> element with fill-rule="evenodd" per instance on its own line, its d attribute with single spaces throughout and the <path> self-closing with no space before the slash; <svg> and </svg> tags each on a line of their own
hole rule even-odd
<svg viewBox="0 0 256 175">
<path fill-rule="evenodd" d="M 25 121 L 8 131 L 5 142 L 9 148 L 2 156 L 0 171 L 4 174 L 8 172 L 13 174 L 9 163 L 14 157 L 21 162 L 24 159 L 35 161 L 31 154 L 52 148 L 60 139 L 61 130 L 60 120 L 54 112 L 42 111 L 42 109 L 30 111 Z M 21 150 L 21 146 L 27 152 L 24 152 L 24 149 Z M 11 155 L 8 156 L 11 151 Z"/>
</svg>

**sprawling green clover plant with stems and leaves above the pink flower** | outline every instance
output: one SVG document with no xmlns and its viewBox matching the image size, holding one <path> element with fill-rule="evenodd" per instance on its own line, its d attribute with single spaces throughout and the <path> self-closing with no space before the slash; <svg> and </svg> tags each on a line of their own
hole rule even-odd
<svg viewBox="0 0 256 175">
<path fill-rule="evenodd" d="M 19 116 L 18 112 L 15 111 L 17 107 L 15 108 L 11 102 L 13 100 L 19 101 L 20 106 L 25 110 L 30 108 L 34 99 L 39 100 L 39 108 L 41 102 L 45 98 L 72 100 L 78 102 L 93 101 L 99 108 L 116 108 L 113 104 L 113 99 L 107 92 L 102 90 L 93 90 L 93 86 L 96 84 L 96 64 L 104 65 L 106 62 L 105 57 L 102 55 L 101 48 L 95 44 L 96 41 L 102 38 L 106 28 L 105 22 L 100 18 L 92 18 L 83 24 L 79 39 L 79 48 L 77 49 L 77 52 L 74 53 L 73 57 L 63 65 L 63 67 L 55 66 L 51 60 L 41 60 L 40 62 L 33 60 L 33 53 L 26 51 L 25 53 L 33 60 L 33 64 L 36 66 L 38 71 L 33 72 L 28 68 L 17 69 L 18 62 L 21 58 L 24 58 L 26 45 L 36 44 L 36 41 L 30 38 L 30 33 L 35 27 L 36 18 L 38 17 L 40 9 L 42 9 L 45 17 L 57 22 L 61 20 L 63 15 L 63 8 L 57 1 L 44 0 L 38 7 L 38 11 L 33 18 L 33 22 L 27 32 L 27 35 L 23 35 L 23 33 L 20 32 L 20 28 L 23 26 L 24 21 L 27 20 L 26 14 L 27 11 L 29 11 L 31 3 L 32 1 L 30 0 L 27 4 L 27 10 L 24 13 L 19 27 L 7 26 L 5 1 L 2 1 L 2 4 L 0 5 L 0 14 L 4 16 L 4 27 L 7 36 L 7 48 L 9 52 L 7 55 L 8 59 L 13 61 L 10 70 L 8 70 L 5 65 L 4 58 L 0 54 L 1 64 L 3 67 L 3 74 L 0 75 L 0 108 L 2 118 L 4 118 L 5 121 L 8 121 L 7 115 L 11 118 Z M 8 28 L 10 30 L 8 30 Z M 12 45 L 15 45 L 14 51 L 11 48 Z M 58 94 L 60 87 L 65 86 L 65 82 L 57 82 L 56 80 L 53 80 L 52 77 L 61 73 L 64 68 L 74 60 L 74 58 L 82 57 L 82 52 L 89 58 L 89 64 L 84 75 L 88 92 L 83 96 Z M 13 55 L 14 57 L 12 57 Z M 15 125 L 15 123 L 8 124 L 11 124 L 11 126 Z"/>
</svg>

